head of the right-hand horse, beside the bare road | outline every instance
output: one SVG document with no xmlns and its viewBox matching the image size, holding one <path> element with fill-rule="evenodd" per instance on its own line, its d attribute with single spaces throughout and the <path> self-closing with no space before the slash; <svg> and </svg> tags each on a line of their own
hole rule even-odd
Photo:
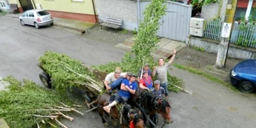
<svg viewBox="0 0 256 128">
<path fill-rule="evenodd" d="M 165 123 L 172 122 L 172 118 L 170 118 L 170 109 L 172 109 L 172 107 L 170 107 L 169 102 L 166 100 L 163 100 L 162 98 L 159 98 L 157 100 L 156 105 L 157 105 L 158 113 L 160 113 L 164 118 L 164 122 Z"/>
</svg>

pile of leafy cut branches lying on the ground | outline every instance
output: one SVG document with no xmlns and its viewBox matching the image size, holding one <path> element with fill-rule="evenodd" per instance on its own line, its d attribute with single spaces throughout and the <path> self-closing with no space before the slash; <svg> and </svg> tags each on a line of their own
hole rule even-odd
<svg viewBox="0 0 256 128">
<path fill-rule="evenodd" d="M 83 115 L 70 107 L 81 105 L 75 105 L 66 95 L 45 90 L 31 80 L 24 79 L 22 82 L 8 76 L 1 81 L 8 85 L 6 90 L 0 91 L 0 117 L 10 127 L 67 127 L 59 121 L 60 117 L 73 121 L 74 118 L 68 116 L 68 113 Z"/>
</svg>

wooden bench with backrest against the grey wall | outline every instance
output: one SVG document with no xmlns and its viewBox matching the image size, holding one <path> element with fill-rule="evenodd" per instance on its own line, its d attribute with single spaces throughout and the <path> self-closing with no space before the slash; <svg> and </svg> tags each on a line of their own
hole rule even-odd
<svg viewBox="0 0 256 128">
<path fill-rule="evenodd" d="M 122 26 L 122 22 L 123 20 L 119 18 L 106 17 L 105 22 L 100 24 L 100 28 L 102 30 L 102 26 L 108 27 L 108 31 L 109 28 L 119 29 Z"/>
</svg>

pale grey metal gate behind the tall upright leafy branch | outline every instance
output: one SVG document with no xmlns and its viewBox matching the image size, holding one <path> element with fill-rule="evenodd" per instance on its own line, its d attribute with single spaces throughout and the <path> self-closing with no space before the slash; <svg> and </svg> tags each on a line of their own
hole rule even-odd
<svg viewBox="0 0 256 128">
<path fill-rule="evenodd" d="M 143 12 L 151 1 L 139 1 L 138 20 L 143 20 Z M 160 27 L 157 35 L 168 39 L 185 42 L 189 34 L 189 21 L 192 7 L 177 2 L 165 2 L 166 14 L 159 20 Z M 138 23 L 139 25 L 139 23 Z"/>
</svg>

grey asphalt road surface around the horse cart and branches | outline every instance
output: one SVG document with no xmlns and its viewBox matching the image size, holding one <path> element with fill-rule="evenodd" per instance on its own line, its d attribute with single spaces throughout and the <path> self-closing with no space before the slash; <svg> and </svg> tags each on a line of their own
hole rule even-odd
<svg viewBox="0 0 256 128">
<path fill-rule="evenodd" d="M 38 77 L 41 71 L 36 64 L 45 51 L 68 54 L 90 66 L 120 61 L 124 51 L 113 45 L 54 27 L 37 30 L 21 26 L 16 18 L 0 17 L 0 77 L 29 78 L 42 86 Z M 169 94 L 174 122 L 165 127 L 255 127 L 254 95 L 235 93 L 198 75 L 172 68 L 170 73 L 183 78 L 186 89 L 193 95 L 183 92 Z M 97 112 L 87 114 L 86 109 L 84 106 L 80 110 L 83 116 L 72 115 L 73 122 L 63 121 L 68 127 L 105 127 Z M 163 120 L 159 123 L 163 124 Z"/>
</svg>

